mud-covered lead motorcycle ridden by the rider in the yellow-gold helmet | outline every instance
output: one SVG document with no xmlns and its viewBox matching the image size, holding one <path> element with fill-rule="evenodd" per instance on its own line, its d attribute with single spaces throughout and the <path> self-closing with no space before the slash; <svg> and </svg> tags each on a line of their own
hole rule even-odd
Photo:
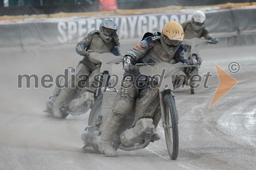
<svg viewBox="0 0 256 170">
<path fill-rule="evenodd" d="M 157 79 L 158 84 L 154 86 L 155 88 L 148 85 L 141 90 L 132 113 L 119 126 L 117 135 L 112 141 L 113 147 L 116 150 L 124 151 L 146 148 L 152 141 L 151 137 L 155 128 L 154 116 L 159 115 L 162 119 L 168 154 L 171 159 L 175 160 L 179 152 L 178 113 L 173 84 L 169 82 L 172 82 L 173 75 L 190 65 L 184 65 L 181 62 L 176 64 L 157 63 L 154 66 L 136 65 L 141 65 L 139 71 L 142 75 Z M 96 100 L 89 115 L 88 127 L 81 134 L 85 144 L 84 148 L 92 147 L 99 152 L 98 142 L 102 128 L 119 96 L 120 91 L 106 87 L 103 95 Z"/>
</svg>

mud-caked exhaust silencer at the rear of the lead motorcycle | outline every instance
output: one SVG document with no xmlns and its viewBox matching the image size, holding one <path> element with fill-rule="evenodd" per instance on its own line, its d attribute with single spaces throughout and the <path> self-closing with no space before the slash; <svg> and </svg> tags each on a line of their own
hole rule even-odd
<svg viewBox="0 0 256 170">
<path fill-rule="evenodd" d="M 81 134 L 81 138 L 83 140 L 84 147 L 98 147 L 99 145 L 100 137 L 89 131 L 83 131 L 83 133 Z"/>
</svg>

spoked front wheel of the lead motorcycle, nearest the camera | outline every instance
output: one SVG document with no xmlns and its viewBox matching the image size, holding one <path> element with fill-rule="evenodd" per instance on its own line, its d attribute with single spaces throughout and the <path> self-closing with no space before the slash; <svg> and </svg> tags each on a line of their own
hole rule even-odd
<svg viewBox="0 0 256 170">
<path fill-rule="evenodd" d="M 163 98 L 164 116 L 165 116 L 165 141 L 168 154 L 171 159 L 175 160 L 179 154 L 179 135 L 178 135 L 178 119 L 176 106 L 173 96 L 165 94 Z"/>
</svg>

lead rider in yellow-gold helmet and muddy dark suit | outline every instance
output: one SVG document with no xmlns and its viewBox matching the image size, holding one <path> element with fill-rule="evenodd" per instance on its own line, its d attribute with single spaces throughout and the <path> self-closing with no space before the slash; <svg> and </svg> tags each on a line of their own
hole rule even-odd
<svg viewBox="0 0 256 170">
<path fill-rule="evenodd" d="M 148 35 L 148 33 L 145 35 Z M 181 46 L 183 37 L 184 32 L 182 26 L 176 21 L 169 21 L 164 25 L 161 33 L 151 33 L 151 36 L 147 36 L 125 54 L 123 58 L 125 74 L 120 89 L 120 98 L 106 120 L 99 141 L 99 150 L 106 156 L 118 156 L 117 151 L 111 145 L 111 141 L 113 141 L 123 119 L 131 113 L 134 100 L 143 89 L 138 88 L 138 82 L 134 81 L 140 76 L 135 64 L 159 62 L 197 64 L 196 60 L 188 60 L 186 58 L 183 47 Z M 189 73 L 191 72 L 191 68 L 185 69 L 184 71 L 188 71 L 187 73 Z M 154 119 L 155 128 L 160 118 L 159 115 L 158 118 Z M 160 136 L 154 131 L 152 140 L 159 139 Z"/>
</svg>

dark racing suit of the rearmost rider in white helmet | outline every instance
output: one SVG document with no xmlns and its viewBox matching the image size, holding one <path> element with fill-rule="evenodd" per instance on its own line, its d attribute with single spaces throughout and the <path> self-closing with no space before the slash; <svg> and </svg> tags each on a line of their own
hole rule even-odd
<svg viewBox="0 0 256 170">
<path fill-rule="evenodd" d="M 184 34 L 185 34 L 185 38 L 201 38 L 201 37 L 204 37 L 205 39 L 208 39 L 208 40 L 211 40 L 211 41 L 217 41 L 218 42 L 218 39 L 212 37 L 212 35 L 210 34 L 209 30 L 207 29 L 206 25 L 203 24 L 201 26 L 201 29 L 194 29 L 193 26 L 192 26 L 192 20 L 187 20 L 183 23 L 181 23 L 181 26 L 184 30 Z M 184 47 L 185 51 L 189 51 L 190 50 L 190 47 L 189 46 L 186 46 Z M 197 58 L 197 61 L 198 61 L 198 64 L 201 65 L 202 63 L 202 58 L 199 57 L 199 54 L 198 55 L 198 58 Z"/>
</svg>

